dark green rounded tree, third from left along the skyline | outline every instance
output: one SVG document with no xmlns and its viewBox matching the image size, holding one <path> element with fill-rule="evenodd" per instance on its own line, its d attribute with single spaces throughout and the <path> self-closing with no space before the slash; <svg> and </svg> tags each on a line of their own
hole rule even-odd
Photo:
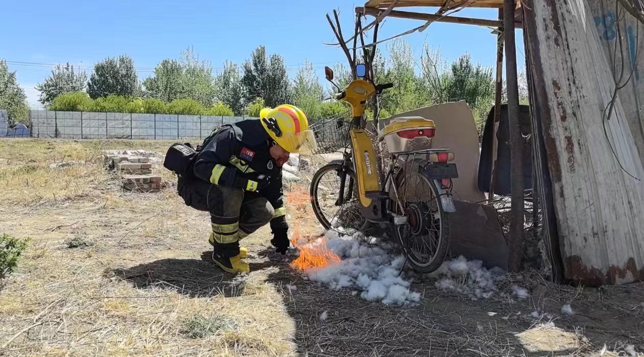
<svg viewBox="0 0 644 357">
<path fill-rule="evenodd" d="M 128 55 L 118 58 L 108 57 L 94 65 L 94 73 L 88 82 L 90 98 L 117 96 L 137 97 L 141 94 L 141 83 L 138 82 L 134 61 Z"/>
</svg>

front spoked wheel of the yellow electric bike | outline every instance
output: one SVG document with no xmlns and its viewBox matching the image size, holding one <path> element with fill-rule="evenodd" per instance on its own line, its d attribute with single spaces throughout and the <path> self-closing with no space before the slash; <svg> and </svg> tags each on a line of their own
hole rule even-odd
<svg viewBox="0 0 644 357">
<path fill-rule="evenodd" d="M 310 187 L 313 212 L 325 229 L 348 234 L 365 232 L 369 222 L 360 214 L 355 173 L 352 170 L 346 172 L 343 204 L 337 205 L 341 170 L 341 164 L 327 164 L 317 170 Z"/>
</svg>

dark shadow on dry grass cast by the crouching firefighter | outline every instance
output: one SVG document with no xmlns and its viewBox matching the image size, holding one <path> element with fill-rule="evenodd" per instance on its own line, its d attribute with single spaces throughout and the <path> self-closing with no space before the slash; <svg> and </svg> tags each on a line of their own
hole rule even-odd
<svg viewBox="0 0 644 357">
<path fill-rule="evenodd" d="M 211 261 L 212 251 L 199 259 L 159 259 L 131 268 L 113 269 L 109 275 L 132 283 L 135 288 L 164 288 L 190 297 L 239 296 L 243 279 L 223 272 Z"/>
</svg>

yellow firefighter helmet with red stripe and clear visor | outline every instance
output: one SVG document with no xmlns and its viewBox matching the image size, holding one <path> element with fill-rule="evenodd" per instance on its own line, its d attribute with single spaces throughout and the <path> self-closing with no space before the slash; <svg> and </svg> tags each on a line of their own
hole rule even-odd
<svg viewBox="0 0 644 357">
<path fill-rule="evenodd" d="M 274 109 L 260 111 L 261 125 L 270 137 L 290 153 L 316 148 L 313 132 L 308 128 L 308 119 L 294 105 L 283 104 Z"/>
</svg>

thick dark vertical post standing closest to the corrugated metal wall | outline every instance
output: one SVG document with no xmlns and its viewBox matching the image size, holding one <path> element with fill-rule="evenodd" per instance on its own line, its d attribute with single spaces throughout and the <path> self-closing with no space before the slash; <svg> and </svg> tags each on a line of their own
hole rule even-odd
<svg viewBox="0 0 644 357">
<path fill-rule="evenodd" d="M 515 0 L 504 0 L 504 37 L 506 42 L 507 118 L 510 132 L 510 178 L 512 217 L 510 220 L 509 270 L 521 269 L 524 246 L 523 135 L 519 122 L 519 94 L 516 74 Z"/>
</svg>

